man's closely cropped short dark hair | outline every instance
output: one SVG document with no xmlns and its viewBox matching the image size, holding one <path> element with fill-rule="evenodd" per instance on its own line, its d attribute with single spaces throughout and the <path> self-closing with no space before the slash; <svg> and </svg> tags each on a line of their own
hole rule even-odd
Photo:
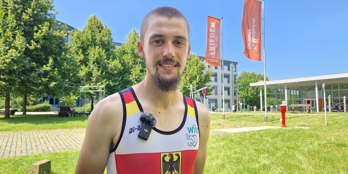
<svg viewBox="0 0 348 174">
<path fill-rule="evenodd" d="M 140 41 L 141 42 L 144 42 L 144 35 L 145 35 L 145 32 L 149 26 L 149 21 L 150 21 L 150 18 L 152 16 L 166 16 L 166 17 L 168 17 L 168 19 L 171 19 L 172 17 L 184 19 L 184 21 L 187 25 L 187 31 L 189 33 L 188 42 L 190 42 L 190 26 L 189 26 L 189 22 L 187 21 L 186 17 L 178 9 L 173 8 L 173 7 L 167 7 L 167 6 L 155 8 L 155 9 L 151 10 L 147 15 L 145 15 L 145 17 L 143 18 L 143 21 L 141 22 L 141 27 L 140 27 Z"/>
</svg>

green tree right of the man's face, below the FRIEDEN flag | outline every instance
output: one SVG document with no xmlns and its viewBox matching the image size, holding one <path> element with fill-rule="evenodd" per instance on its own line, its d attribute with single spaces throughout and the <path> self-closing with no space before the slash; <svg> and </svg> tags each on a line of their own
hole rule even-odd
<svg viewBox="0 0 348 174">
<path fill-rule="evenodd" d="M 211 68 L 205 69 L 203 60 L 200 60 L 198 56 L 191 53 L 190 58 L 186 61 L 185 70 L 182 73 L 179 85 L 190 86 L 196 83 L 196 89 L 200 89 L 207 86 L 209 82 L 212 82 L 211 77 L 213 74 Z M 186 96 L 190 96 L 190 88 L 179 87 L 179 90 Z M 208 86 L 205 90 L 205 95 L 207 96 L 213 91 L 212 86 Z M 202 93 L 199 93 L 199 95 L 202 98 L 204 97 Z"/>
</svg>

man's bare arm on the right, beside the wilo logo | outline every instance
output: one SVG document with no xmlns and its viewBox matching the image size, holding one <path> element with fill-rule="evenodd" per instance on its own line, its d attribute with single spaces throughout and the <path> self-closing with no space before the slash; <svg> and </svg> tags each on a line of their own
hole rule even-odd
<svg viewBox="0 0 348 174">
<path fill-rule="evenodd" d="M 195 174 L 202 174 L 204 171 L 205 160 L 207 158 L 207 144 L 210 133 L 210 113 L 201 103 L 196 102 L 199 123 L 199 147 L 194 166 Z"/>
</svg>

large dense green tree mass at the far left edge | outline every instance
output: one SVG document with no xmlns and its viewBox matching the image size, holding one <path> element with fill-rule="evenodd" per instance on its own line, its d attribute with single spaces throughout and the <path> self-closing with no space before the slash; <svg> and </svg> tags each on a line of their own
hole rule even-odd
<svg viewBox="0 0 348 174">
<path fill-rule="evenodd" d="M 61 88 L 70 75 L 57 69 L 70 68 L 64 66 L 66 59 L 62 56 L 64 26 L 55 27 L 56 13 L 49 12 L 53 10 L 52 3 L 51 0 L 4 0 L 0 3 L 0 90 L 6 93 L 5 103 L 8 103 L 5 118 L 9 118 L 11 93 L 24 95 L 25 113 L 28 94 L 40 93 L 40 89 Z"/>
</svg>

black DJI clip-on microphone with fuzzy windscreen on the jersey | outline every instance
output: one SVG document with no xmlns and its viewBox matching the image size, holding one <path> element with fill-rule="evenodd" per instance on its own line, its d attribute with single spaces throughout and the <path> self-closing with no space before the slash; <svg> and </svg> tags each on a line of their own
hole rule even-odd
<svg viewBox="0 0 348 174">
<path fill-rule="evenodd" d="M 138 138 L 147 141 L 149 139 L 153 126 L 156 126 L 157 119 L 152 113 L 141 112 L 140 121 L 143 122 L 138 134 Z"/>
</svg>

